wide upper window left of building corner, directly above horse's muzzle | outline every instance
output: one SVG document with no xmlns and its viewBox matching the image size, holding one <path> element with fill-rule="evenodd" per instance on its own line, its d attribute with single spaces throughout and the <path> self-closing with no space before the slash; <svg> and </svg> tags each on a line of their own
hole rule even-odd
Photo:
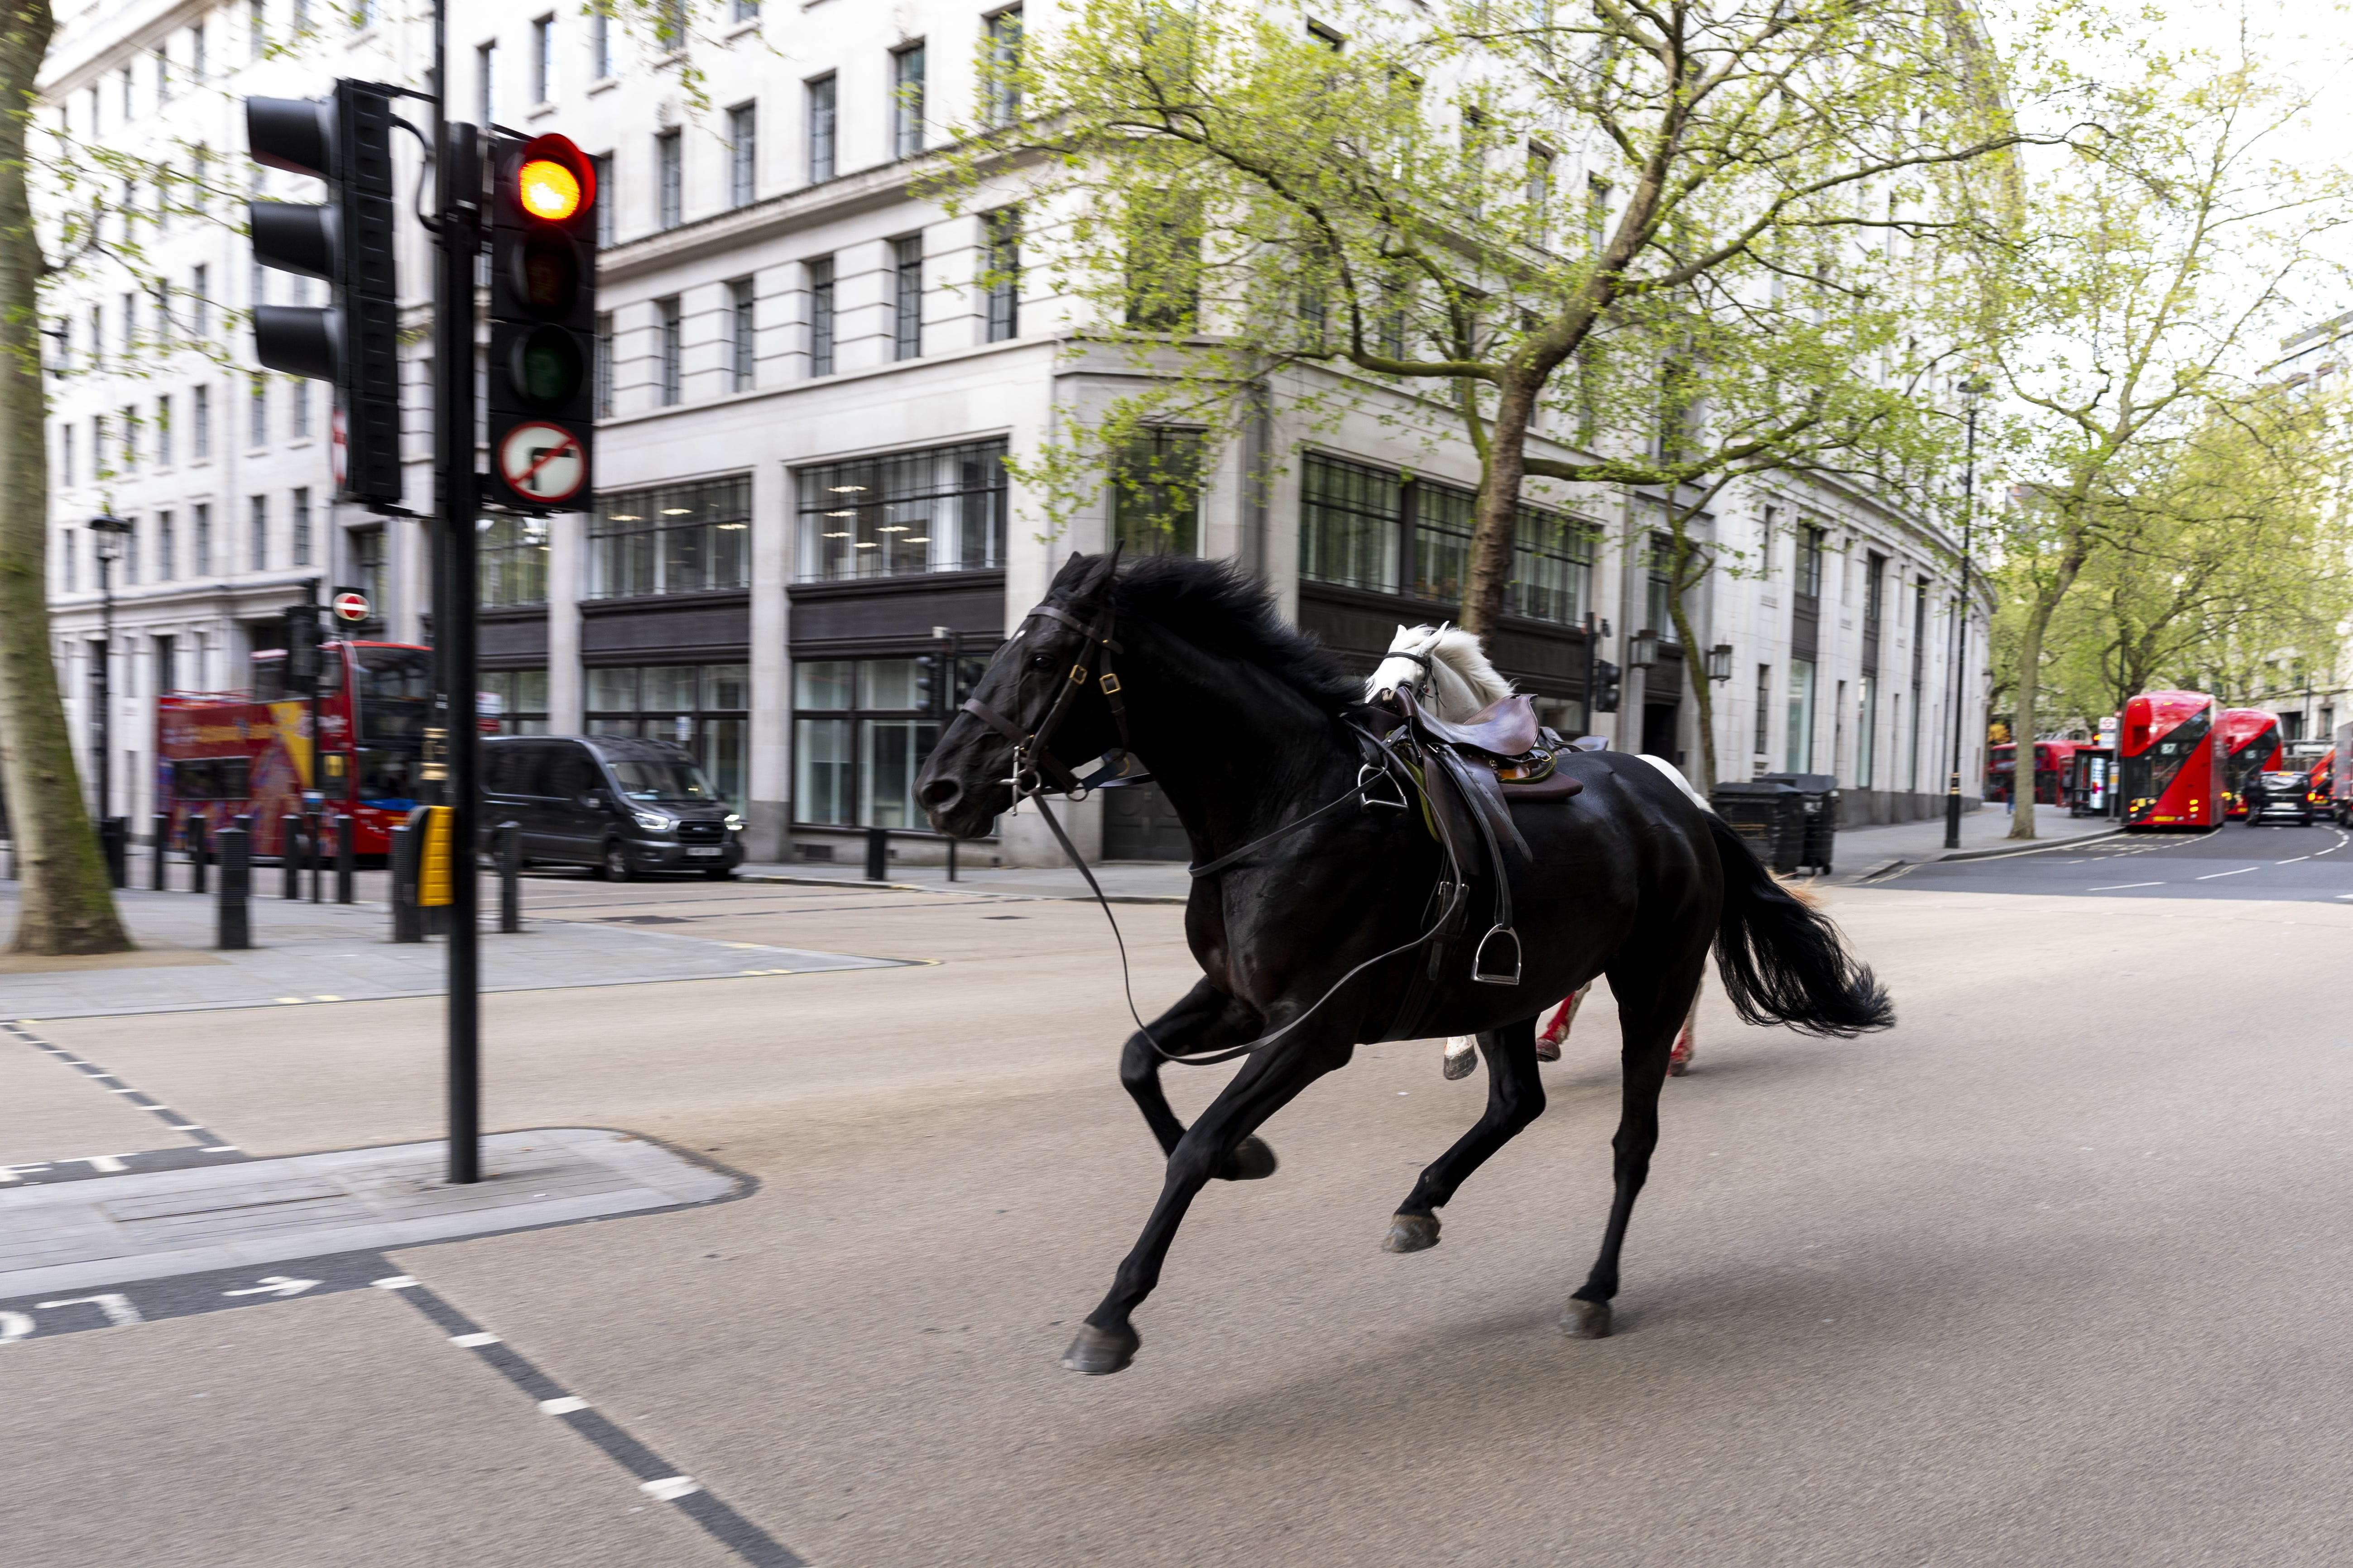
<svg viewBox="0 0 2353 1568">
<path fill-rule="evenodd" d="M 1005 442 L 800 470 L 800 578 L 1005 564 Z"/>
</svg>

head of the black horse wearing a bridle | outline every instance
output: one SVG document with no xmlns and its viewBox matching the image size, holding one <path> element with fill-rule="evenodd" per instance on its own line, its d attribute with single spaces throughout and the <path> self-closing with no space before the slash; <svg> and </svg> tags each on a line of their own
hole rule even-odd
<svg viewBox="0 0 2353 1568">
<path fill-rule="evenodd" d="M 1054 773 L 1068 778 L 1068 769 L 1118 743 L 1101 698 L 1101 649 L 1089 637 L 1089 628 L 1111 625 L 1115 564 L 1113 555 L 1073 555 L 988 661 L 972 705 L 948 722 L 915 776 L 932 827 L 979 837 L 1012 809 L 1016 769 L 1028 790 L 1040 769 L 1054 783 Z"/>
</svg>

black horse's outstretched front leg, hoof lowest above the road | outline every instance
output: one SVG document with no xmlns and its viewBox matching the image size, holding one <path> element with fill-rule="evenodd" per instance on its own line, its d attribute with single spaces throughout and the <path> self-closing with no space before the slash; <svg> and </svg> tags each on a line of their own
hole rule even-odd
<svg viewBox="0 0 2353 1568">
<path fill-rule="evenodd" d="M 1240 1150 L 1249 1133 L 1289 1105 L 1301 1088 L 1325 1072 L 1346 1065 L 1351 1051 L 1353 1046 L 1346 1034 L 1325 1025 L 1315 1034 L 1297 1030 L 1280 1044 L 1242 1063 L 1242 1070 L 1219 1091 L 1209 1110 L 1169 1150 L 1160 1201 L 1153 1204 L 1153 1213 L 1144 1222 L 1144 1234 L 1136 1237 L 1134 1251 L 1120 1260 L 1111 1295 L 1087 1314 L 1078 1338 L 1071 1340 L 1071 1349 L 1064 1352 L 1061 1363 L 1066 1368 L 1073 1373 L 1115 1373 L 1136 1359 L 1136 1347 L 1144 1340 L 1129 1326 L 1127 1316 L 1160 1284 L 1160 1265 L 1167 1260 L 1169 1244 L 1176 1241 L 1176 1227 L 1184 1225 L 1193 1197 L 1212 1175 L 1221 1173 L 1226 1159 Z"/>
</svg>

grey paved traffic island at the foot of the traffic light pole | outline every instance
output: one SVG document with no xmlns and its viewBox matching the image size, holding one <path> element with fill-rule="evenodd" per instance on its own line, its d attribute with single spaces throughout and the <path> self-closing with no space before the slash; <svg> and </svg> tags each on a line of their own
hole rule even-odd
<svg viewBox="0 0 2353 1568">
<path fill-rule="evenodd" d="M 744 1180 L 635 1133 L 482 1140 L 482 1180 L 405 1143 L 0 1192 L 0 1300 L 254 1262 L 376 1251 L 734 1197 Z"/>
</svg>

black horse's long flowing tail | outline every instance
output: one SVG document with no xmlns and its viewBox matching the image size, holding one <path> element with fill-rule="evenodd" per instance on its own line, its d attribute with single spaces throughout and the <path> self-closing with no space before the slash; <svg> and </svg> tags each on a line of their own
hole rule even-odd
<svg viewBox="0 0 2353 1568">
<path fill-rule="evenodd" d="M 1838 926 L 1774 882 L 1725 818 L 1708 813 L 1725 867 L 1715 969 L 1741 1023 L 1786 1023 L 1802 1034 L 1852 1039 L 1897 1020 L 1887 987 L 1847 952 Z"/>
</svg>

